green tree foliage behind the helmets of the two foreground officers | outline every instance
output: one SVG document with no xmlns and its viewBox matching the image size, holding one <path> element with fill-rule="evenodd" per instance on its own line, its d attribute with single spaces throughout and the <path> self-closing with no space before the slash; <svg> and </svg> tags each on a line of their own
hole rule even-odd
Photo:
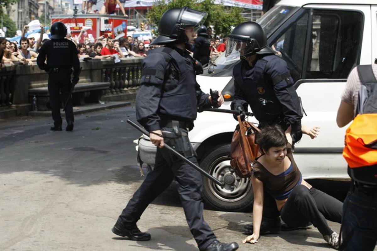
<svg viewBox="0 0 377 251">
<path fill-rule="evenodd" d="M 245 19 L 241 16 L 242 8 L 215 5 L 214 0 L 159 0 L 148 12 L 151 22 L 158 26 L 159 20 L 165 11 L 171 8 L 189 7 L 208 13 L 205 26 L 213 26 L 213 32 L 222 37 L 231 32 L 232 26 L 242 23 Z"/>
</svg>

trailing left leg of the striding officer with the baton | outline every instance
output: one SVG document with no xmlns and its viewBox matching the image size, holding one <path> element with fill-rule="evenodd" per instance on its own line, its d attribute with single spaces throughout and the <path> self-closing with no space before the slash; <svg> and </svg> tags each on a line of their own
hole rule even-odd
<svg viewBox="0 0 377 251">
<path fill-rule="evenodd" d="M 166 149 L 157 148 L 154 169 L 147 174 L 143 184 L 133 194 L 119 216 L 116 226 L 134 228 L 147 206 L 172 183 L 174 175 L 162 151 Z"/>
</svg>

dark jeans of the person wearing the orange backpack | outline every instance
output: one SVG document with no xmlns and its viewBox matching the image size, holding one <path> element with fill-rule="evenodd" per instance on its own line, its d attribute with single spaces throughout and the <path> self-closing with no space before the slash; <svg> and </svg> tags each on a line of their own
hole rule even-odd
<svg viewBox="0 0 377 251">
<path fill-rule="evenodd" d="M 374 250 L 377 242 L 377 189 L 351 187 L 343 204 L 342 250 Z"/>
</svg>

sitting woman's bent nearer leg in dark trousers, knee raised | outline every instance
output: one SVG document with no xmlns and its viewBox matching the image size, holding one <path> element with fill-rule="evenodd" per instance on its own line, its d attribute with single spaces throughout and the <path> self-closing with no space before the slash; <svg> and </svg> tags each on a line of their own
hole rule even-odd
<svg viewBox="0 0 377 251">
<path fill-rule="evenodd" d="M 316 201 L 310 190 L 303 186 L 296 186 L 280 211 L 282 220 L 292 227 L 302 227 L 311 222 L 325 236 L 333 233 L 325 217 L 317 208 Z"/>
</svg>

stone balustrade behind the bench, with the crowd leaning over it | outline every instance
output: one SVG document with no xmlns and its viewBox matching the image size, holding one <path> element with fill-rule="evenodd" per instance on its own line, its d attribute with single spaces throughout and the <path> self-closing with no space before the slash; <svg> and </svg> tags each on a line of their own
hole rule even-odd
<svg viewBox="0 0 377 251">
<path fill-rule="evenodd" d="M 114 63 L 112 59 L 92 59 L 81 61 L 82 71 L 79 83 L 110 82 L 104 100 L 123 101 L 135 97 L 141 77 L 143 58 L 125 58 Z M 40 70 L 37 64 L 6 66 L 0 70 L 0 118 L 4 111 L 14 110 L 14 114 L 27 115 L 32 109 L 32 88 L 46 88 L 48 73 Z M 3 113 L 3 114 L 2 114 Z"/>
</svg>

